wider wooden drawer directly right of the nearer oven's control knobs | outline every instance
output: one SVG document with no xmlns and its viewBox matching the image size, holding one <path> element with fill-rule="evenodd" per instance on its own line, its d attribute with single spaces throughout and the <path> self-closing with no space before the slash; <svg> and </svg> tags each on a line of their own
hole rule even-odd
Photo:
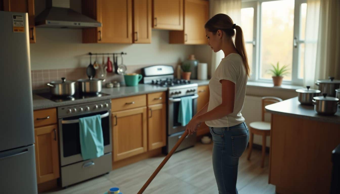
<svg viewBox="0 0 340 194">
<path fill-rule="evenodd" d="M 126 110 L 147 105 L 147 95 L 129 96 L 111 100 L 111 111 Z"/>
</svg>

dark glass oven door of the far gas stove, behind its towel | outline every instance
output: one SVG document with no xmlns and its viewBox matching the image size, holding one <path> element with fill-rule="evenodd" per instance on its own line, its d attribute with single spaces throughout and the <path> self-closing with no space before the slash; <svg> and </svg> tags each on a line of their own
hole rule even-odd
<svg viewBox="0 0 340 194">
<path fill-rule="evenodd" d="M 198 95 L 192 96 L 192 116 L 197 111 L 197 98 Z M 182 96 L 183 97 L 183 96 Z M 168 135 L 184 131 L 186 126 L 182 126 L 178 122 L 178 111 L 180 107 L 181 98 L 169 98 L 168 100 Z"/>
</svg>

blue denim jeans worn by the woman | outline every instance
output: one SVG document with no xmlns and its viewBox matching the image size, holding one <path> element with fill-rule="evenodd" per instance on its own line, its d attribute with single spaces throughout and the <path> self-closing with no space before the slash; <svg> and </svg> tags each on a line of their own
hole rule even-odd
<svg viewBox="0 0 340 194">
<path fill-rule="evenodd" d="M 212 167 L 219 194 L 238 194 L 236 189 L 238 159 L 249 141 L 249 130 L 243 122 L 232 127 L 209 127 L 214 146 Z"/>
</svg>

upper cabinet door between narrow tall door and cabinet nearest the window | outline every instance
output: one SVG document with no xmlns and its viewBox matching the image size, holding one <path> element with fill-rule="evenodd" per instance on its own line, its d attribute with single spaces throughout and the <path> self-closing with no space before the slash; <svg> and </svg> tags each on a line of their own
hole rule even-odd
<svg viewBox="0 0 340 194">
<path fill-rule="evenodd" d="M 153 0 L 155 29 L 183 30 L 183 0 Z"/>
</svg>

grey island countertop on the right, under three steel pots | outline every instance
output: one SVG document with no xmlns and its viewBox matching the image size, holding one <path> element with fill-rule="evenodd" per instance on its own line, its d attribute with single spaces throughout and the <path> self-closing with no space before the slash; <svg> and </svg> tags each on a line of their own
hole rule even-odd
<svg viewBox="0 0 340 194">
<path fill-rule="evenodd" d="M 297 97 L 267 105 L 266 110 L 270 113 L 281 114 L 289 117 L 340 124 L 339 107 L 334 116 L 322 116 L 314 111 L 314 106 L 301 105 Z"/>
</svg>

